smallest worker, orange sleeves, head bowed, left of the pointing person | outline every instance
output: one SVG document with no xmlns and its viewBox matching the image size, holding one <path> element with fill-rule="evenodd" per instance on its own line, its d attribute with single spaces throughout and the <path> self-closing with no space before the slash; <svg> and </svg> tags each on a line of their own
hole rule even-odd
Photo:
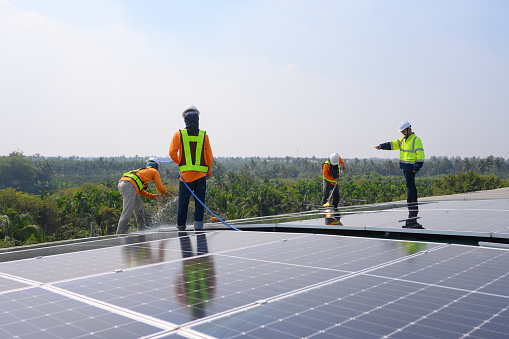
<svg viewBox="0 0 509 339">
<path fill-rule="evenodd" d="M 341 167 L 339 166 L 341 164 Z M 332 191 L 332 205 L 334 206 L 334 219 L 327 222 L 327 225 L 340 225 L 343 224 L 340 221 L 341 214 L 338 212 L 339 205 L 339 188 L 338 181 L 339 175 L 341 174 L 341 170 L 345 170 L 345 163 L 343 159 L 337 153 L 332 153 L 329 159 L 323 163 L 322 172 L 323 172 L 323 195 L 322 195 L 322 206 L 327 207 L 330 206 L 328 202 L 331 191 Z M 327 221 L 327 220 L 326 220 Z"/>
</svg>

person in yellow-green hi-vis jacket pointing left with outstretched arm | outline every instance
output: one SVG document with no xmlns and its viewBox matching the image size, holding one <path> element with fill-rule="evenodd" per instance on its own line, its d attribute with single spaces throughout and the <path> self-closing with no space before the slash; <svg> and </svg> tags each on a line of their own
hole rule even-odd
<svg viewBox="0 0 509 339">
<path fill-rule="evenodd" d="M 417 187 L 415 174 L 424 164 L 424 147 L 419 137 L 412 132 L 412 125 L 408 121 L 399 124 L 399 131 L 403 136 L 399 139 L 375 146 L 377 150 L 399 149 L 399 168 L 403 170 L 407 188 L 408 219 L 403 228 L 423 228 L 417 222 L 419 207 L 417 205 Z"/>
</svg>

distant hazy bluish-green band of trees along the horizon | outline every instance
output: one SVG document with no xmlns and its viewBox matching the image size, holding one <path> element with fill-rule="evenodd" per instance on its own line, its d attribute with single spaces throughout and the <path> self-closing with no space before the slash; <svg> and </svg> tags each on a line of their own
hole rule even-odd
<svg viewBox="0 0 509 339">
<path fill-rule="evenodd" d="M 0 157 L 0 189 L 15 188 L 22 192 L 39 192 L 75 187 L 84 183 L 112 182 L 122 173 L 145 166 L 147 157 L 43 157 L 25 156 L 14 151 Z M 170 158 L 159 158 L 162 162 L 161 177 L 175 179 L 178 168 Z M 231 158 L 214 159 L 213 175 L 227 172 L 246 173 L 269 179 L 310 179 L 321 174 L 321 158 Z M 344 159 L 347 171 L 345 178 L 365 176 L 401 176 L 398 159 Z M 434 157 L 426 159 L 419 177 L 435 177 L 473 171 L 481 175 L 494 174 L 509 179 L 509 160 L 501 157 Z M 265 180 L 265 179 L 264 179 Z"/>
</svg>

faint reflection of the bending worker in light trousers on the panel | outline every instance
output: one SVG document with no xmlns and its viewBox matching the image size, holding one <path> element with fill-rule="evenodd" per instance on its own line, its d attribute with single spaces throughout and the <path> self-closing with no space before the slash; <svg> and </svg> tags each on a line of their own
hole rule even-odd
<svg viewBox="0 0 509 339">
<path fill-rule="evenodd" d="M 155 264 L 164 261 L 164 253 L 167 241 L 160 241 L 157 251 L 152 250 L 152 245 L 145 242 L 145 235 L 138 235 L 129 238 L 136 244 L 127 245 L 122 248 L 124 262 L 129 267 Z"/>
</svg>

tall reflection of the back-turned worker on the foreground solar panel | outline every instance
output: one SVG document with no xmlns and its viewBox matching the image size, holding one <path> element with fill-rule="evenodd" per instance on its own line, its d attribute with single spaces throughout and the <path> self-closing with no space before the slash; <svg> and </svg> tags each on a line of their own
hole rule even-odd
<svg viewBox="0 0 509 339">
<path fill-rule="evenodd" d="M 216 272 L 212 256 L 208 254 L 207 237 L 196 234 L 197 250 L 193 253 L 191 237 L 179 232 L 182 251 L 182 273 L 175 284 L 175 294 L 180 304 L 188 306 L 193 319 L 203 318 L 207 303 L 214 298 Z"/>
</svg>

